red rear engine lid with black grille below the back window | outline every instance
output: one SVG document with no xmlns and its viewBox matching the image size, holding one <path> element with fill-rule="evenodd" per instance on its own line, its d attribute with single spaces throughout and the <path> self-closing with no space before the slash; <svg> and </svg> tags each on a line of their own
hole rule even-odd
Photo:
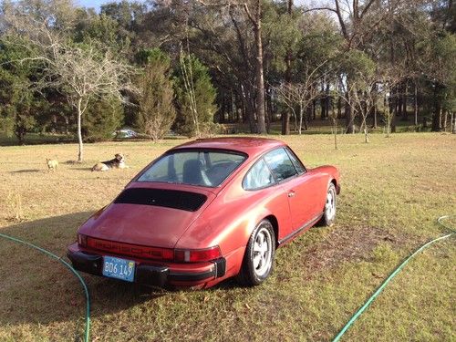
<svg viewBox="0 0 456 342">
<path fill-rule="evenodd" d="M 215 194 L 197 187 L 155 185 L 133 183 L 90 217 L 79 233 L 127 244 L 173 248 Z"/>
</svg>

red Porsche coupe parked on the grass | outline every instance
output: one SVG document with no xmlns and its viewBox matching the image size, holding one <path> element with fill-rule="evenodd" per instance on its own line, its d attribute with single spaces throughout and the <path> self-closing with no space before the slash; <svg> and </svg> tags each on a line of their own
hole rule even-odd
<svg viewBox="0 0 456 342">
<path fill-rule="evenodd" d="M 284 142 L 195 140 L 152 161 L 68 246 L 73 266 L 145 285 L 259 285 L 275 249 L 336 217 L 339 173 L 306 169 Z"/>
</svg>

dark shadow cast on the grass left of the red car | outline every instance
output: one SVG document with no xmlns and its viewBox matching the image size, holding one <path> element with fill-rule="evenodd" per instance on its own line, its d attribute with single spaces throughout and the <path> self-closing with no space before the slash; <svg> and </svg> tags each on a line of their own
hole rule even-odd
<svg viewBox="0 0 456 342">
<path fill-rule="evenodd" d="M 36 244 L 67 260 L 67 245 L 92 212 L 74 212 L 0 228 L 0 233 Z M 81 329 L 86 300 L 76 276 L 33 248 L 0 239 L 0 326 L 74 322 Z M 153 300 L 160 289 L 81 274 L 90 293 L 91 316 L 114 314 Z M 83 324 L 82 324 L 83 326 Z"/>
</svg>

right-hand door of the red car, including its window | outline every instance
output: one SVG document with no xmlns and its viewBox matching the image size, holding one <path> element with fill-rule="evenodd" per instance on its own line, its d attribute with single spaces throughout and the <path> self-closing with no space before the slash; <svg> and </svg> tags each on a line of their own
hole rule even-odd
<svg viewBox="0 0 456 342">
<path fill-rule="evenodd" d="M 313 190 L 315 177 L 307 174 L 302 163 L 287 148 L 266 153 L 264 161 L 287 194 L 293 230 L 312 222 L 317 214 Z"/>
</svg>

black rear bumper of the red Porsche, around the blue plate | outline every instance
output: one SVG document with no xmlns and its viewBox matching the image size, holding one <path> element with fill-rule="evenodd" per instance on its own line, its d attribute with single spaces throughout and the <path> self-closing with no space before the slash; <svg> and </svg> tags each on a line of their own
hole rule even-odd
<svg viewBox="0 0 456 342">
<path fill-rule="evenodd" d="M 78 271 L 103 276 L 103 254 L 81 251 L 72 244 L 68 247 L 67 257 Z M 224 258 L 204 264 L 184 264 L 183 269 L 181 264 L 155 264 L 138 260 L 135 263 L 135 283 L 160 287 L 201 286 L 223 277 L 226 270 Z"/>
</svg>

